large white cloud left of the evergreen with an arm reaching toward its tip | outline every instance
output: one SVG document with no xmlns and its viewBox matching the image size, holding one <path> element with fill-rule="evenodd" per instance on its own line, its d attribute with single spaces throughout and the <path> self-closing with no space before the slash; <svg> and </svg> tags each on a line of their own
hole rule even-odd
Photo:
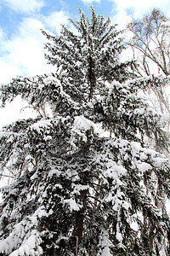
<svg viewBox="0 0 170 256">
<path fill-rule="evenodd" d="M 60 24 L 67 22 L 68 16 L 64 11 L 53 12 L 48 16 L 39 15 L 39 20 L 25 18 L 10 39 L 0 27 L 0 84 L 16 75 L 34 76 L 54 71 L 55 67 L 48 65 L 44 58 L 47 38 L 42 35 L 41 29 L 48 28 L 56 33 L 60 31 Z"/>
</svg>

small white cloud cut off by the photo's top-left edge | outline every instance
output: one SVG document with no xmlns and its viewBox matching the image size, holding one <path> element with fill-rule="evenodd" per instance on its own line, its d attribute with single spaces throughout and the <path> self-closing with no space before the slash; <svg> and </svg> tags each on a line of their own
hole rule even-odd
<svg viewBox="0 0 170 256">
<path fill-rule="evenodd" d="M 3 0 L 10 9 L 17 12 L 31 13 L 44 6 L 44 0 Z"/>
</svg>

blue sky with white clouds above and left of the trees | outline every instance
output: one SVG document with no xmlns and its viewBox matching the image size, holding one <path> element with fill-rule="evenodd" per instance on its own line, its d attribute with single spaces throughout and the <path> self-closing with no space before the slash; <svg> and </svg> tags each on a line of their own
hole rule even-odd
<svg viewBox="0 0 170 256">
<path fill-rule="evenodd" d="M 45 38 L 41 28 L 59 33 L 60 24 L 69 26 L 69 17 L 79 19 L 78 7 L 89 15 L 91 5 L 120 28 L 132 16 L 138 19 L 153 8 L 170 17 L 169 0 L 0 0 L 0 84 L 16 75 L 51 72 L 54 67 L 47 65 L 43 56 Z M 7 112 L 0 110 L 0 126 L 17 116 L 11 111 L 13 105 L 7 108 Z"/>
</svg>

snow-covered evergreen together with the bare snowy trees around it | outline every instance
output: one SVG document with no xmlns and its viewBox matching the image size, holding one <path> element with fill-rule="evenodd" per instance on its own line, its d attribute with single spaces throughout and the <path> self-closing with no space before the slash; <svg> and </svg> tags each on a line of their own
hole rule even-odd
<svg viewBox="0 0 170 256">
<path fill-rule="evenodd" d="M 0 255 L 170 255 L 169 19 L 78 11 L 42 30 L 55 73 L 0 87 L 37 111 L 0 131 Z"/>
</svg>

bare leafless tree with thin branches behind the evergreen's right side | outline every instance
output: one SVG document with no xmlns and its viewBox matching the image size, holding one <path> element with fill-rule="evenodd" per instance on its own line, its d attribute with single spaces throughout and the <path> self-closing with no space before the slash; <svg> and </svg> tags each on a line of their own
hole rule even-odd
<svg viewBox="0 0 170 256">
<path fill-rule="evenodd" d="M 127 44 L 133 49 L 133 57 L 139 60 L 136 72 L 139 76 L 170 74 L 170 23 L 160 9 L 153 9 L 141 20 L 133 20 L 127 25 L 132 37 Z M 167 84 L 150 86 L 159 102 L 161 113 L 170 113 Z"/>
</svg>

